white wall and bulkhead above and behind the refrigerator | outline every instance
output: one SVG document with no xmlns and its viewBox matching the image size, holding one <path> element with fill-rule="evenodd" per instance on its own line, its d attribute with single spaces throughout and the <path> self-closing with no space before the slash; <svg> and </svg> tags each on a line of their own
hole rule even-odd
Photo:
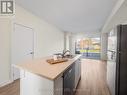
<svg viewBox="0 0 127 95">
<path fill-rule="evenodd" d="M 102 29 L 102 60 L 106 60 L 107 53 L 107 40 L 105 33 L 110 32 L 110 30 L 116 27 L 118 24 L 127 24 L 127 0 L 119 0 L 115 8 L 113 9 L 111 15 L 109 16 L 107 22 Z"/>
</svg>

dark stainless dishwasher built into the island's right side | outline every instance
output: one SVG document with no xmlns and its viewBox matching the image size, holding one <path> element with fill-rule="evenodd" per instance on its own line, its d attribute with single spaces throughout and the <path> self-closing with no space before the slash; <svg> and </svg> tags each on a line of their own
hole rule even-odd
<svg viewBox="0 0 127 95">
<path fill-rule="evenodd" d="M 71 65 L 63 76 L 63 95 L 74 95 L 75 91 L 75 63 Z"/>
</svg>

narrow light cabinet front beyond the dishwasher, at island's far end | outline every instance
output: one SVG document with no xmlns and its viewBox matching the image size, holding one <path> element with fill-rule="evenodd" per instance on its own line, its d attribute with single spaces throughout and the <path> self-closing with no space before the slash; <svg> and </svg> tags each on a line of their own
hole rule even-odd
<svg viewBox="0 0 127 95">
<path fill-rule="evenodd" d="M 75 88 L 78 85 L 80 77 L 81 77 L 81 61 L 80 59 L 78 59 L 75 61 Z"/>
</svg>

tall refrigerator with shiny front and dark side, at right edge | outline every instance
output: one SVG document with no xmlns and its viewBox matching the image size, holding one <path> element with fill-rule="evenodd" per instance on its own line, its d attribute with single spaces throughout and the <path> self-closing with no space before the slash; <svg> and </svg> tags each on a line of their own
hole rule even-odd
<svg viewBox="0 0 127 95">
<path fill-rule="evenodd" d="M 127 25 L 118 25 L 109 33 L 107 84 L 111 95 L 127 95 Z"/>
</svg>

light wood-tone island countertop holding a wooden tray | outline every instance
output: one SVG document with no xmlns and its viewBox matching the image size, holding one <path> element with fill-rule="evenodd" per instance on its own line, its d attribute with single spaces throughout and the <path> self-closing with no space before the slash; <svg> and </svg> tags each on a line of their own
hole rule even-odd
<svg viewBox="0 0 127 95">
<path fill-rule="evenodd" d="M 34 59 L 22 64 L 15 65 L 17 68 L 45 77 L 50 80 L 55 80 L 59 75 L 64 73 L 81 55 L 77 55 L 67 62 L 50 64 L 46 60 L 51 57 Z"/>
</svg>

